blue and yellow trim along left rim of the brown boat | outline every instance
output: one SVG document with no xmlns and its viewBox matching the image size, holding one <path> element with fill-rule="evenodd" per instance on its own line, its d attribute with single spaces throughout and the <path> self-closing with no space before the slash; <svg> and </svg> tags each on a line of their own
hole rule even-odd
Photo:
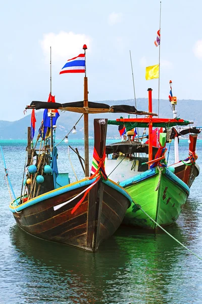
<svg viewBox="0 0 202 304">
<path fill-rule="evenodd" d="M 9 209 L 10 209 L 13 213 L 15 213 L 15 210 L 21 211 L 21 210 L 23 210 L 23 209 L 25 209 L 25 208 L 27 208 L 27 207 L 29 207 L 29 206 L 32 206 L 32 205 L 37 204 L 37 203 L 39 203 L 39 202 L 42 202 L 42 201 L 44 201 L 44 200 L 47 200 L 47 199 L 56 197 L 56 196 L 58 196 L 58 195 L 60 195 L 60 194 L 63 194 L 63 193 L 72 191 L 72 190 L 74 190 L 74 189 L 77 189 L 77 188 L 80 188 L 80 187 L 83 187 L 83 186 L 86 186 L 86 185 L 90 185 L 91 183 L 93 183 L 93 182 L 95 181 L 95 179 L 96 179 L 96 178 L 87 179 L 87 180 L 84 180 L 84 181 L 82 181 L 82 182 L 78 182 L 78 183 L 76 183 L 76 184 L 74 184 L 74 185 L 71 185 L 71 184 L 66 185 L 66 186 L 64 186 L 64 187 L 62 187 L 62 188 L 58 188 L 58 189 L 55 189 L 55 190 L 53 190 L 53 191 L 47 192 L 47 193 L 45 193 L 45 194 L 42 194 L 42 195 L 40 195 L 40 196 L 38 196 L 38 197 L 36 197 L 36 198 L 34 198 L 34 199 L 28 201 L 27 203 L 24 203 L 24 204 L 22 204 L 22 205 L 19 205 L 18 207 L 15 206 L 15 209 L 13 209 L 13 208 L 11 208 L 11 207 L 9 207 Z"/>
</svg>

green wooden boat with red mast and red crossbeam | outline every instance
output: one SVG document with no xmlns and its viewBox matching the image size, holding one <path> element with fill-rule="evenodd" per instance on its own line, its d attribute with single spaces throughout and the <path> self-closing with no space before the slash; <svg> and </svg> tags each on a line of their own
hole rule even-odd
<svg viewBox="0 0 202 304">
<path fill-rule="evenodd" d="M 151 91 L 148 89 L 150 112 L 152 112 Z M 107 155 L 112 151 L 115 154 L 115 158 L 106 159 L 107 174 L 123 186 L 134 201 L 127 210 L 123 223 L 152 230 L 158 229 L 155 222 L 161 226 L 171 225 L 182 211 L 189 195 L 189 187 L 164 164 L 165 133 L 160 134 L 160 148 L 153 149 L 152 128 L 158 124 L 162 127 L 163 124 L 188 125 L 189 122 L 180 119 L 156 119 L 151 116 L 145 119 L 117 119 L 117 123 L 123 124 L 123 122 L 125 125 L 128 123 L 130 127 L 132 124 L 134 127 L 135 123 L 140 123 L 142 126 L 147 124 L 149 128 L 148 145 L 128 141 L 106 147 Z M 138 124 L 139 126 L 141 125 Z M 148 159 L 138 157 L 138 154 L 143 152 L 148 154 Z M 117 154 L 118 158 L 116 158 Z"/>
</svg>

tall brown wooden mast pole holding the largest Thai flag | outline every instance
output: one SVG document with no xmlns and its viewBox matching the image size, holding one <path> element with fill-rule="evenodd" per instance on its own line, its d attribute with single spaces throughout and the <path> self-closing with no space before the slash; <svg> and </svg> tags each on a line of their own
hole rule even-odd
<svg viewBox="0 0 202 304">
<path fill-rule="evenodd" d="M 84 54 L 87 46 L 83 46 Z M 84 77 L 84 97 L 83 106 L 88 107 L 88 79 L 86 77 L 86 58 L 85 58 L 85 77 Z M 88 146 L 88 113 L 84 113 L 84 149 L 85 149 L 85 176 L 89 176 L 89 146 Z"/>
</svg>

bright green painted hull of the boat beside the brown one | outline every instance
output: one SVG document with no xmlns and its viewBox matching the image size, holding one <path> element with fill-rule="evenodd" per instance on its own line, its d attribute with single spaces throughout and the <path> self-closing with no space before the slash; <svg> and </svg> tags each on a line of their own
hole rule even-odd
<svg viewBox="0 0 202 304">
<path fill-rule="evenodd" d="M 159 183 L 159 171 L 124 187 L 136 204 L 161 226 L 171 225 L 178 219 L 188 196 L 186 189 L 169 178 L 166 172 L 167 170 L 162 172 L 157 191 L 155 189 Z M 134 203 L 127 210 L 123 223 L 151 230 L 158 229 Z"/>
</svg>

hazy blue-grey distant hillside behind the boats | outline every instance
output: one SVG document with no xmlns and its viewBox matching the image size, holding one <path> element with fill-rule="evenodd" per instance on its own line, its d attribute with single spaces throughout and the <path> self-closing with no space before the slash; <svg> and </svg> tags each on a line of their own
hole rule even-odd
<svg viewBox="0 0 202 304">
<path fill-rule="evenodd" d="M 119 105 L 119 104 L 128 104 L 134 105 L 134 100 L 106 100 L 100 101 L 107 103 L 109 105 Z M 148 100 L 147 98 L 138 98 L 137 99 L 137 109 L 138 110 L 148 110 Z M 153 99 L 153 112 L 157 113 L 158 100 Z M 178 116 L 185 120 L 192 120 L 194 126 L 202 126 L 202 101 L 201 100 L 178 100 L 177 103 Z M 27 110 L 29 113 L 29 110 Z M 80 118 L 79 113 L 73 112 L 60 112 L 60 117 L 57 121 L 57 138 L 63 138 L 70 129 L 74 126 L 77 120 Z M 30 111 L 31 113 L 31 111 Z M 43 111 L 36 112 L 36 133 L 40 126 L 43 116 Z M 108 114 L 91 114 L 89 115 L 89 136 L 93 137 L 93 119 L 94 118 L 108 118 L 115 120 L 123 116 L 127 118 L 126 113 L 108 113 Z M 171 109 L 171 104 L 168 100 L 160 100 L 160 116 L 162 118 L 172 118 L 173 113 Z M 24 118 L 15 121 L 0 121 L 0 139 L 26 139 L 27 138 L 27 127 L 30 126 L 31 114 L 26 115 Z M 83 138 L 83 119 L 80 120 L 76 126 L 77 133 L 75 135 L 70 134 L 71 138 Z M 119 137 L 118 127 L 117 126 L 108 126 L 108 138 Z M 199 135 L 200 136 L 200 135 Z"/>
</svg>

